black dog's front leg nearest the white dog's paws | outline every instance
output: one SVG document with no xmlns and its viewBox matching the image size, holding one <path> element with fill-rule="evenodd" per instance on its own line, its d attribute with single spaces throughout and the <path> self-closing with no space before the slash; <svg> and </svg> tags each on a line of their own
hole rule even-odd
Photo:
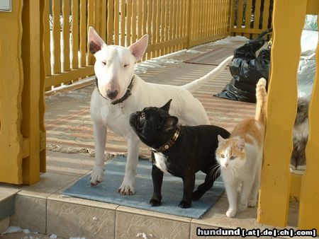
<svg viewBox="0 0 319 239">
<path fill-rule="evenodd" d="M 152 153 L 152 158 L 154 154 Z M 154 160 L 153 160 L 154 162 Z M 150 199 L 151 206 L 159 206 L 162 200 L 162 182 L 163 182 L 163 172 L 157 168 L 154 164 L 152 165 L 152 181 L 153 181 L 153 197 Z"/>
</svg>

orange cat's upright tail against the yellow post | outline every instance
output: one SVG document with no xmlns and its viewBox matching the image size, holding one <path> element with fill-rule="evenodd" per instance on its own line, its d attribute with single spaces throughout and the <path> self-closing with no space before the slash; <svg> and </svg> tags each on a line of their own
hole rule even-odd
<svg viewBox="0 0 319 239">
<path fill-rule="evenodd" d="M 267 107 L 267 92 L 266 92 L 267 81 L 264 78 L 260 78 L 256 86 L 256 115 L 254 119 L 266 124 L 266 107 Z"/>
</svg>

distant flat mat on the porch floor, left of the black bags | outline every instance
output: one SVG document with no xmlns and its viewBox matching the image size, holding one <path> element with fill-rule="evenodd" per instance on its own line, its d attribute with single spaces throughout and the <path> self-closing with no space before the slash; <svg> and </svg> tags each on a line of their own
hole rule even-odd
<svg viewBox="0 0 319 239">
<path fill-rule="evenodd" d="M 224 59 L 234 54 L 235 48 L 233 47 L 214 47 L 213 50 L 200 54 L 198 57 L 194 57 L 185 61 L 185 63 L 191 64 L 204 64 L 217 66 Z"/>
</svg>

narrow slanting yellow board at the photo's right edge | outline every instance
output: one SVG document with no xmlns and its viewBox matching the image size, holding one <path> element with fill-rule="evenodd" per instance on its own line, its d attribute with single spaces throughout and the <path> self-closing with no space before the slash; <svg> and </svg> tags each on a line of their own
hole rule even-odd
<svg viewBox="0 0 319 239">
<path fill-rule="evenodd" d="M 306 147 L 307 168 L 301 181 L 298 228 L 316 228 L 319 231 L 319 44 L 315 56 L 315 82 L 309 105 L 309 137 Z"/>
</svg>

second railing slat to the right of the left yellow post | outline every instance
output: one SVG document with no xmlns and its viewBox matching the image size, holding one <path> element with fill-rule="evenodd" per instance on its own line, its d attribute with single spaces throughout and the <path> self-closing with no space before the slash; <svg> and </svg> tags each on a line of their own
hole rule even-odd
<svg viewBox="0 0 319 239">
<path fill-rule="evenodd" d="M 53 45 L 54 45 L 54 74 L 61 72 L 60 46 L 60 0 L 52 0 Z"/>
</svg>

